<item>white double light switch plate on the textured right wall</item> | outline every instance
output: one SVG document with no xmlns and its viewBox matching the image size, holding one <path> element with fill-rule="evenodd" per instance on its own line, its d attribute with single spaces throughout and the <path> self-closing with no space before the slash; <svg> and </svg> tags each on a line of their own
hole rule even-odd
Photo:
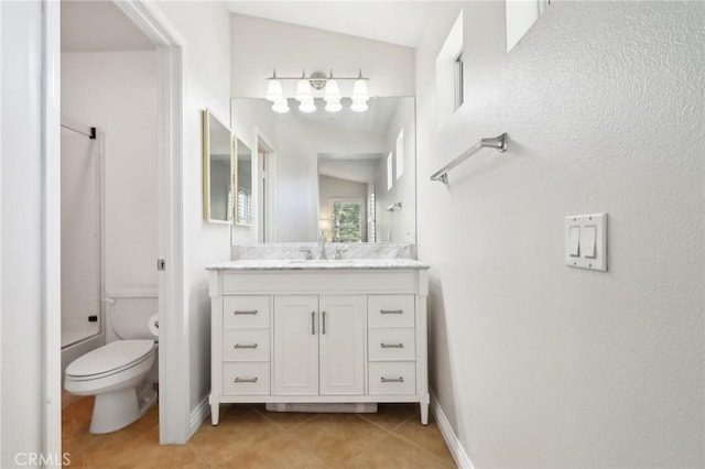
<svg viewBox="0 0 705 469">
<path fill-rule="evenodd" d="M 574 255 L 576 228 L 579 230 L 579 249 Z M 607 214 L 565 217 L 565 264 L 607 272 Z"/>
</svg>

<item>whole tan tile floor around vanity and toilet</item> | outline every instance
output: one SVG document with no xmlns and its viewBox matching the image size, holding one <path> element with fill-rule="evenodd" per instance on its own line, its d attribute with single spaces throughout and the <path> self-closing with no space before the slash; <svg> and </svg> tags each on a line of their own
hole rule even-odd
<svg viewBox="0 0 705 469">
<path fill-rule="evenodd" d="M 93 397 L 63 412 L 63 451 L 82 468 L 454 468 L 435 422 L 419 406 L 380 404 L 377 414 L 267 412 L 221 405 L 186 445 L 159 445 L 159 411 L 107 435 L 88 433 Z"/>
</svg>

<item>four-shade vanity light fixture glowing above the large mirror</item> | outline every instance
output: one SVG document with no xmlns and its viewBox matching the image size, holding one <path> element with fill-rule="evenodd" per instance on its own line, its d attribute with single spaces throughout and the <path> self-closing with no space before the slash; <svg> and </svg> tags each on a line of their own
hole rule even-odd
<svg viewBox="0 0 705 469">
<path fill-rule="evenodd" d="M 300 102 L 299 110 L 302 112 L 314 112 L 316 105 L 314 102 L 314 90 L 324 90 L 323 98 L 326 101 L 325 110 L 328 112 L 338 112 L 343 109 L 340 99 L 340 88 L 338 81 L 341 80 L 355 80 L 352 88 L 352 105 L 350 109 L 355 112 L 365 112 L 368 109 L 367 101 L 369 95 L 367 91 L 367 81 L 369 78 L 362 76 L 362 70 L 359 70 L 357 77 L 334 77 L 333 70 L 326 77 L 321 72 L 314 72 L 306 76 L 306 72 L 303 70 L 300 77 L 278 77 L 276 69 L 268 80 L 267 96 L 265 98 L 273 102 L 272 110 L 274 112 L 289 112 L 289 105 L 284 97 L 282 80 L 296 80 L 296 94 L 294 98 Z M 325 88 L 325 89 L 324 89 Z"/>
</svg>

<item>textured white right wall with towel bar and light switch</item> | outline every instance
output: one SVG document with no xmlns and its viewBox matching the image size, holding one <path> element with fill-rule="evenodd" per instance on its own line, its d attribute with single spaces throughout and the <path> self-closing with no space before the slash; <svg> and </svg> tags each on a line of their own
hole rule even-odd
<svg viewBox="0 0 705 469">
<path fill-rule="evenodd" d="M 475 467 L 701 467 L 705 6 L 554 2 L 506 54 L 467 2 L 465 105 L 436 130 L 438 3 L 416 55 L 431 383 Z M 429 175 L 478 139 L 485 150 Z M 563 217 L 609 212 L 607 273 Z"/>
</svg>

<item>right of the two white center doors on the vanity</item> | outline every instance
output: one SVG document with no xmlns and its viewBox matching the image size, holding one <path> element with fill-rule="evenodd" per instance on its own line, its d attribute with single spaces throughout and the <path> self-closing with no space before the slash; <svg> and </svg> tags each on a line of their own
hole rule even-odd
<svg viewBox="0 0 705 469">
<path fill-rule="evenodd" d="M 321 395 L 365 394 L 365 296 L 323 295 L 319 303 Z"/>
</svg>

